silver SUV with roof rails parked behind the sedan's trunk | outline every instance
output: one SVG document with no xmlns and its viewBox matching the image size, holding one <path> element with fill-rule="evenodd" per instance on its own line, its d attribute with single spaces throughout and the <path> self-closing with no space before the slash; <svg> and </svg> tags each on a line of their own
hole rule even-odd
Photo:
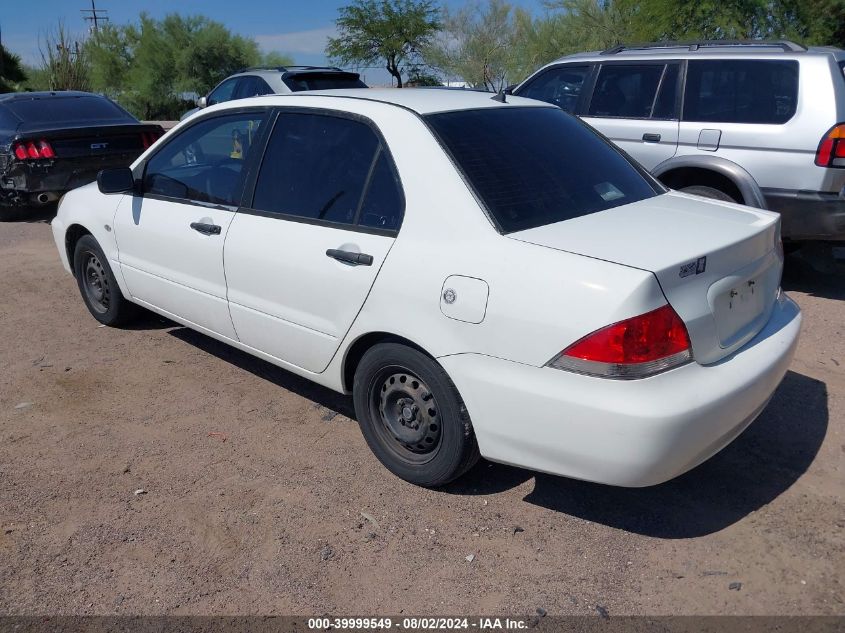
<svg viewBox="0 0 845 633">
<path fill-rule="evenodd" d="M 619 46 L 513 90 L 583 118 L 665 185 L 781 213 L 786 240 L 845 240 L 845 51 L 793 42 Z"/>
</svg>

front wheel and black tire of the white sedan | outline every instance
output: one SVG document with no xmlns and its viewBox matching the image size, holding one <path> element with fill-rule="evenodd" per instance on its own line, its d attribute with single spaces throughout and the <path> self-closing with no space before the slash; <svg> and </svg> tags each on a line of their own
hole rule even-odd
<svg viewBox="0 0 845 633">
<path fill-rule="evenodd" d="M 91 235 L 83 235 L 73 251 L 73 272 L 85 306 L 104 325 L 123 325 L 139 308 L 128 301 L 114 278 L 103 249 Z"/>
</svg>

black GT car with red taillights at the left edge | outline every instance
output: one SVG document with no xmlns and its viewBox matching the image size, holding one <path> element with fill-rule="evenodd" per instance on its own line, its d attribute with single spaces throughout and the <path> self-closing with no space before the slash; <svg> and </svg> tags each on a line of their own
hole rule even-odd
<svg viewBox="0 0 845 633">
<path fill-rule="evenodd" d="M 162 134 L 88 92 L 0 95 L 0 220 L 58 200 L 106 167 L 126 167 Z"/>
</svg>

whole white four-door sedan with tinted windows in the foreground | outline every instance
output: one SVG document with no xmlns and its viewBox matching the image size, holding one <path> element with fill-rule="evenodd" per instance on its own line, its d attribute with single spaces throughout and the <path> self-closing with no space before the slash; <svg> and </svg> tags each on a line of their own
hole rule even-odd
<svg viewBox="0 0 845 633">
<path fill-rule="evenodd" d="M 208 108 L 68 193 L 53 233 L 95 319 L 143 306 L 351 392 L 408 481 L 481 455 L 647 486 L 783 378 L 779 226 L 545 103 L 350 90 Z"/>
</svg>

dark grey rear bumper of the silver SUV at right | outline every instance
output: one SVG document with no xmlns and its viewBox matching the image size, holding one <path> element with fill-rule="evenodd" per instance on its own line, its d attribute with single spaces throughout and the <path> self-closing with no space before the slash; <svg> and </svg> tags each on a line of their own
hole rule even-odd
<svg viewBox="0 0 845 633">
<path fill-rule="evenodd" d="M 837 193 L 769 189 L 771 211 L 781 214 L 781 234 L 791 240 L 845 241 L 845 188 Z"/>
</svg>

